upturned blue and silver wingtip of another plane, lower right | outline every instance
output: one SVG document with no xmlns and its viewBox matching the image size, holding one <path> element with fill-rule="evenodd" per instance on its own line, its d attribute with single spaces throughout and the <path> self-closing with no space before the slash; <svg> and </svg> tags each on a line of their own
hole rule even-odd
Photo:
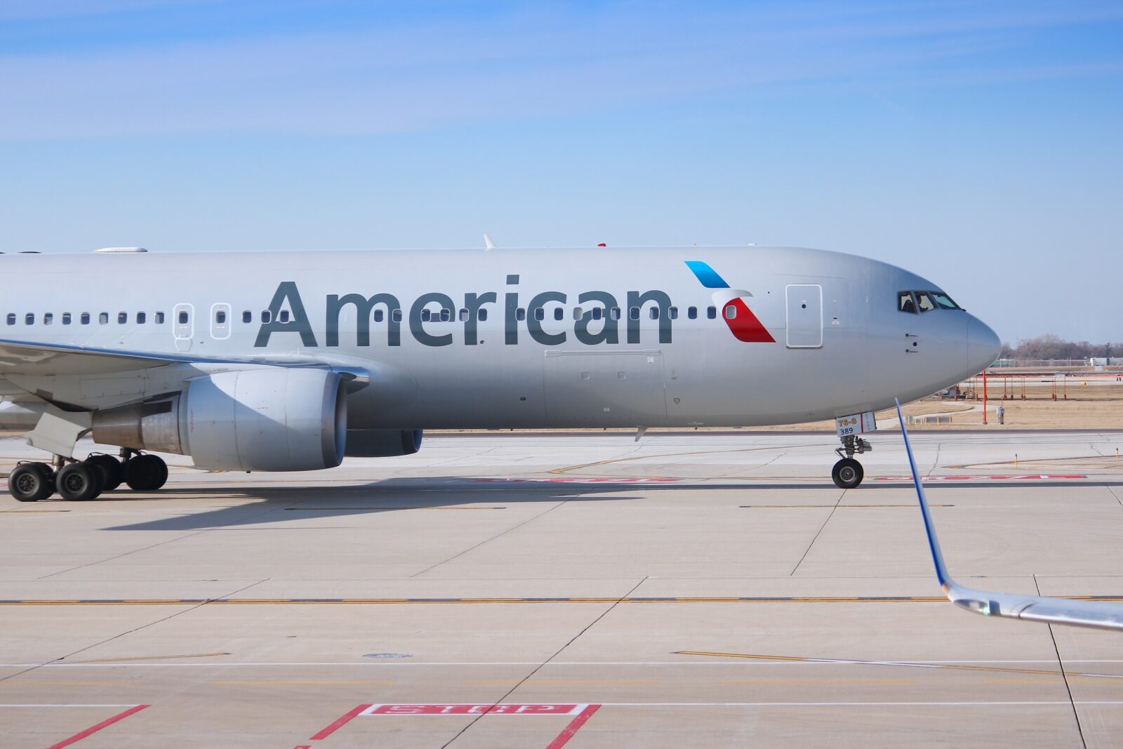
<svg viewBox="0 0 1123 749">
<path fill-rule="evenodd" d="M 924 486 L 921 483 L 920 473 L 916 471 L 912 446 L 909 444 L 909 431 L 905 429 L 905 420 L 901 415 L 900 401 L 897 402 L 897 419 L 901 422 L 901 436 L 905 440 L 905 450 L 909 453 L 909 468 L 912 471 L 913 484 L 916 486 L 916 499 L 924 519 L 924 532 L 928 535 L 928 548 L 932 555 L 932 564 L 935 566 L 935 578 L 952 603 L 984 616 L 1007 616 L 1050 624 L 1123 630 L 1123 605 L 1117 603 L 975 591 L 951 579 L 948 568 L 943 564 L 940 541 L 935 537 L 932 513 L 929 512 L 928 497 L 924 495 Z"/>
</svg>

